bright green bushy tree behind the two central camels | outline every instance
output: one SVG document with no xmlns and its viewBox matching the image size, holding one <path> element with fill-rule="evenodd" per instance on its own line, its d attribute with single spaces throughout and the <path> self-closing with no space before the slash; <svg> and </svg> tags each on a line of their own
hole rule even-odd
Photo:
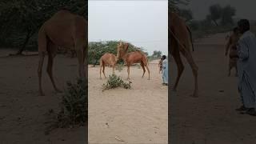
<svg viewBox="0 0 256 144">
<path fill-rule="evenodd" d="M 117 45 L 119 41 L 106 41 L 106 42 L 89 42 L 88 45 L 88 63 L 93 65 L 99 64 L 99 59 L 103 54 L 111 53 L 117 55 Z M 129 43 L 128 52 L 141 50 L 143 48 L 136 47 Z M 123 63 L 122 61 L 118 61 L 118 63 Z"/>
</svg>

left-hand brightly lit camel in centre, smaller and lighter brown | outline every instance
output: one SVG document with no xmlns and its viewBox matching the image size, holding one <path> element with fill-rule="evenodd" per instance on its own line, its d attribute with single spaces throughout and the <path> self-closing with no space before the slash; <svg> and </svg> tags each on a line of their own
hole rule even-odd
<svg viewBox="0 0 256 144">
<path fill-rule="evenodd" d="M 104 74 L 104 77 L 106 78 L 105 75 L 105 66 L 111 66 L 113 68 L 113 74 L 114 74 L 114 68 L 118 62 L 118 58 L 114 54 L 106 53 L 102 55 L 102 58 L 100 59 L 100 72 L 99 76 L 102 79 L 102 73 Z M 103 70 L 102 70 L 103 67 Z"/>
</svg>

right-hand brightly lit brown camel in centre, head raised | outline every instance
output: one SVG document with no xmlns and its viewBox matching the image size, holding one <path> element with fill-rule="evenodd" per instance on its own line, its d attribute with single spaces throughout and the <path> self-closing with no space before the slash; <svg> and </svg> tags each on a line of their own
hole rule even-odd
<svg viewBox="0 0 256 144">
<path fill-rule="evenodd" d="M 126 42 L 119 42 L 118 43 L 118 59 L 122 58 L 126 62 L 128 78 L 130 79 L 130 66 L 134 63 L 140 63 L 143 69 L 142 78 L 147 70 L 149 73 L 149 80 L 150 80 L 150 70 L 148 67 L 148 59 L 146 58 L 146 54 L 142 54 L 142 51 L 134 51 L 127 53 L 129 44 Z M 146 70 L 145 70 L 146 67 Z"/>
</svg>

